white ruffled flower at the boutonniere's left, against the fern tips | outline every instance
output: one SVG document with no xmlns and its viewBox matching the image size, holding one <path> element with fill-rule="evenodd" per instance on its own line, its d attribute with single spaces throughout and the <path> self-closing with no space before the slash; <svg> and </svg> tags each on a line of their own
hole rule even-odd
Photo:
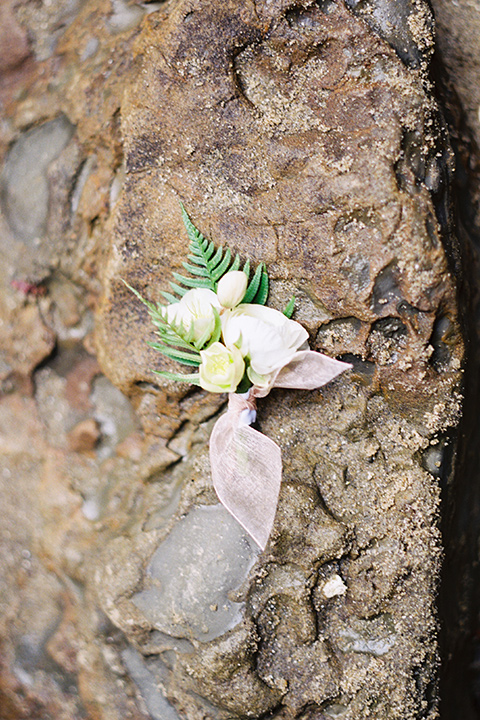
<svg viewBox="0 0 480 720">
<path fill-rule="evenodd" d="M 178 303 L 167 305 L 167 320 L 175 325 L 182 323 L 188 330 L 193 323 L 193 339 L 199 340 L 207 330 L 210 335 L 215 327 L 213 308 L 220 310 L 220 303 L 213 290 L 196 288 L 185 293 Z"/>
</svg>

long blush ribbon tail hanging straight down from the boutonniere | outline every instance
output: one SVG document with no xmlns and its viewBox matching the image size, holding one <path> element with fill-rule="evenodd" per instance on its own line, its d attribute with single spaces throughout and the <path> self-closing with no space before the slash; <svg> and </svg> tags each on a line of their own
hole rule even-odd
<svg viewBox="0 0 480 720">
<path fill-rule="evenodd" d="M 222 415 L 210 437 L 212 481 L 222 505 L 265 549 L 277 510 L 282 458 L 278 445 Z"/>
</svg>

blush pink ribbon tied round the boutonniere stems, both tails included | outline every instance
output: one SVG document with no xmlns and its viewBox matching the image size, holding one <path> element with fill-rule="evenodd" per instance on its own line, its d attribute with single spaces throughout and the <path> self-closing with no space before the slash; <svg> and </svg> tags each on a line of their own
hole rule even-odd
<svg viewBox="0 0 480 720">
<path fill-rule="evenodd" d="M 213 486 L 222 505 L 262 550 L 277 510 L 282 456 L 273 440 L 250 427 L 256 418 L 256 400 L 273 387 L 315 390 L 351 367 L 313 350 L 301 350 L 280 368 L 268 389 L 254 386 L 248 393 L 228 396 L 228 410 L 210 437 Z"/>
</svg>

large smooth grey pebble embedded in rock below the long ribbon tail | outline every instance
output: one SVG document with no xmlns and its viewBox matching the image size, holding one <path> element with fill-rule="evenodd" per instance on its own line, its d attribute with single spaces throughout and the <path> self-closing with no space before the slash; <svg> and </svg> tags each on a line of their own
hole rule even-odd
<svg viewBox="0 0 480 720">
<path fill-rule="evenodd" d="M 151 587 L 135 605 L 157 630 L 206 642 L 232 629 L 243 603 L 233 602 L 259 549 L 221 506 L 191 510 L 155 551 L 148 567 Z"/>
</svg>

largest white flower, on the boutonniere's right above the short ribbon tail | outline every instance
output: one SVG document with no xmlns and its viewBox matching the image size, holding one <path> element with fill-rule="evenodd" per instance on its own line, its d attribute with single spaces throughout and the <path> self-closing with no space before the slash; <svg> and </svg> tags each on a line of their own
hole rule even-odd
<svg viewBox="0 0 480 720">
<path fill-rule="evenodd" d="M 222 315 L 223 339 L 248 358 L 248 377 L 254 385 L 266 387 L 270 378 L 293 359 L 308 340 L 299 323 L 263 305 L 239 305 Z"/>
</svg>

